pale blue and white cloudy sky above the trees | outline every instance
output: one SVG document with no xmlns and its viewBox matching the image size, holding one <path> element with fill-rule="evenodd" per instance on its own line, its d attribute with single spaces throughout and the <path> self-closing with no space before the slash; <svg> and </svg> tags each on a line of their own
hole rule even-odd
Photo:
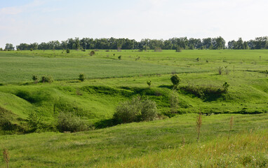
<svg viewBox="0 0 268 168">
<path fill-rule="evenodd" d="M 67 38 L 268 36 L 267 0 L 0 0 L 0 48 Z"/>
</svg>

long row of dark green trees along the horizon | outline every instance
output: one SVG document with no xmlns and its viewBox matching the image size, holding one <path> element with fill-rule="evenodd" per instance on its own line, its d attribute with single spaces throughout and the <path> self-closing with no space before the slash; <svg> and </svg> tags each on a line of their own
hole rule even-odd
<svg viewBox="0 0 268 168">
<path fill-rule="evenodd" d="M 220 49 L 268 49 L 268 36 L 257 37 L 255 40 L 229 41 L 226 45 L 221 36 L 216 38 L 170 38 L 168 40 L 157 40 L 145 38 L 135 41 L 128 38 L 68 38 L 66 41 L 49 41 L 48 43 L 20 43 L 16 45 L 17 50 L 220 50 Z M 5 50 L 14 50 L 11 43 L 6 44 Z"/>
</svg>

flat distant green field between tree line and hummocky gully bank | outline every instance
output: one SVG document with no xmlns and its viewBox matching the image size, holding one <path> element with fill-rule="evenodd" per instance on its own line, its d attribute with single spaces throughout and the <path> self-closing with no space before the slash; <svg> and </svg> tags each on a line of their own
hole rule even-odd
<svg viewBox="0 0 268 168">
<path fill-rule="evenodd" d="M 30 81 L 32 74 L 53 76 L 55 80 L 75 79 L 79 73 L 88 78 L 111 78 L 164 73 L 217 73 L 219 66 L 228 71 L 267 69 L 267 50 L 137 50 L 86 52 L 72 50 L 34 50 L 0 52 L 0 83 Z M 122 60 L 118 57 L 121 55 Z M 199 61 L 196 59 L 199 58 Z"/>
</svg>

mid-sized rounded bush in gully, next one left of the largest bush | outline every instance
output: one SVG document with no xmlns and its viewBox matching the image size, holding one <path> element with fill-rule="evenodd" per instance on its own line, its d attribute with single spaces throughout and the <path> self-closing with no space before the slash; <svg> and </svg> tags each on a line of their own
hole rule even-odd
<svg viewBox="0 0 268 168">
<path fill-rule="evenodd" d="M 86 122 L 72 113 L 61 112 L 58 116 L 57 129 L 60 132 L 80 132 L 88 130 Z"/>
</svg>

